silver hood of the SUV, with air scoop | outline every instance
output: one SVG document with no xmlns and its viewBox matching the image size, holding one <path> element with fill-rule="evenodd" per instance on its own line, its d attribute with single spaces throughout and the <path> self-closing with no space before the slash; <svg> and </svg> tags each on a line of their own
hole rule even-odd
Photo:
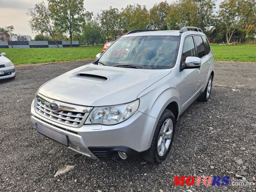
<svg viewBox="0 0 256 192">
<path fill-rule="evenodd" d="M 89 64 L 45 83 L 39 93 L 54 100 L 84 106 L 128 103 L 168 75 L 171 69 L 134 69 Z"/>
</svg>

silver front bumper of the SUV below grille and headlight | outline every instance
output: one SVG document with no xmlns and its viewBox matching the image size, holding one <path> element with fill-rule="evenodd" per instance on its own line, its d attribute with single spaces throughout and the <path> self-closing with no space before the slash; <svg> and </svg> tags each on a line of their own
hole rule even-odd
<svg viewBox="0 0 256 192">
<path fill-rule="evenodd" d="M 150 147 L 156 119 L 139 111 L 126 121 L 116 125 L 83 125 L 69 127 L 46 119 L 36 113 L 31 105 L 31 122 L 41 124 L 68 137 L 68 148 L 93 159 L 113 159 L 117 151 L 128 155 L 127 160 L 144 156 Z"/>
</svg>

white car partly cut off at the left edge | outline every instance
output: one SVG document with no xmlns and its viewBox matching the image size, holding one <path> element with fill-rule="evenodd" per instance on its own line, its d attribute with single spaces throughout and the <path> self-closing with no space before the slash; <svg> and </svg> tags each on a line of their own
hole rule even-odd
<svg viewBox="0 0 256 192">
<path fill-rule="evenodd" d="M 14 79 L 16 76 L 15 67 L 9 59 L 4 57 L 6 53 L 0 54 L 0 80 L 12 78 Z"/>
</svg>

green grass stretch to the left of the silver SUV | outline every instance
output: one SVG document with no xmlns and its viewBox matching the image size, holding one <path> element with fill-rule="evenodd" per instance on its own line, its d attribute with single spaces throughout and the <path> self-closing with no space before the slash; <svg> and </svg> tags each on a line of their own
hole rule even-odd
<svg viewBox="0 0 256 192">
<path fill-rule="evenodd" d="M 103 46 L 84 46 L 66 48 L 20 48 L 0 49 L 15 65 L 31 63 L 49 63 L 55 61 L 95 59 Z"/>
</svg>

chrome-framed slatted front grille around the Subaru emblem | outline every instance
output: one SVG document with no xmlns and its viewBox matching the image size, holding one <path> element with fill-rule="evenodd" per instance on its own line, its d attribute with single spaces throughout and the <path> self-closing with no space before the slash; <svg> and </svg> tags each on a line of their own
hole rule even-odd
<svg viewBox="0 0 256 192">
<path fill-rule="evenodd" d="M 55 112 L 50 109 L 49 106 L 52 102 L 58 104 L 60 111 Z M 84 121 L 92 110 L 92 107 L 83 107 L 55 101 L 41 94 L 36 95 L 35 105 L 36 113 L 39 115 L 59 124 L 75 128 L 81 127 L 84 124 Z"/>
</svg>

